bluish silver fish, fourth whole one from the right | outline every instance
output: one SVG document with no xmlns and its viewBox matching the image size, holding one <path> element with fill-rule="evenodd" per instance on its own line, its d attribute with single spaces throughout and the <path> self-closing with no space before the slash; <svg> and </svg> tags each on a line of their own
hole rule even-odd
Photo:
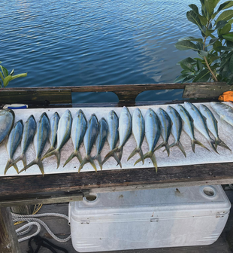
<svg viewBox="0 0 233 256">
<path fill-rule="evenodd" d="M 175 139 L 174 143 L 172 143 L 169 146 L 169 148 L 173 148 L 177 146 L 178 148 L 180 148 L 180 151 L 186 157 L 186 152 L 184 151 L 183 145 L 180 143 L 180 136 L 182 133 L 182 119 L 180 117 L 180 114 L 171 106 L 168 106 L 167 113 L 171 118 L 171 122 L 172 122 L 171 133 Z"/>
</svg>

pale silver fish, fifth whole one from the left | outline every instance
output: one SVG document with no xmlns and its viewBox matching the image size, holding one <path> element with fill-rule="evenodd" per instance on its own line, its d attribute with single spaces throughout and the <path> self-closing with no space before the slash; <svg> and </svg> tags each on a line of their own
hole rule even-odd
<svg viewBox="0 0 233 256">
<path fill-rule="evenodd" d="M 61 150 L 65 145 L 65 143 L 68 142 L 68 140 L 71 137 L 71 127 L 72 127 L 72 115 L 71 115 L 71 111 L 67 110 L 65 111 L 64 114 L 62 114 L 62 117 L 59 120 L 59 126 L 57 130 L 56 149 L 46 154 L 44 157 L 42 157 L 41 160 L 44 160 L 47 157 L 51 157 L 55 155 L 57 160 L 57 169 L 59 168 L 60 160 L 61 160 Z"/>
</svg>

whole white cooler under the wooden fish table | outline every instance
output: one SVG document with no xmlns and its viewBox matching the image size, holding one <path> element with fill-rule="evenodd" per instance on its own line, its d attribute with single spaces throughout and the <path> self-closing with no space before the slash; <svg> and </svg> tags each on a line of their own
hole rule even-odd
<svg viewBox="0 0 233 256">
<path fill-rule="evenodd" d="M 210 245 L 231 209 L 220 185 L 95 196 L 69 206 L 72 243 L 81 253 Z"/>
</svg>

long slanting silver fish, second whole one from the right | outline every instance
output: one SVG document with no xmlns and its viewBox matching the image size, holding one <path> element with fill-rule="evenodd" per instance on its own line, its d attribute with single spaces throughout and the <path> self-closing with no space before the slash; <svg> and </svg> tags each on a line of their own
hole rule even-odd
<svg viewBox="0 0 233 256">
<path fill-rule="evenodd" d="M 216 148 L 214 147 L 215 142 L 213 139 L 210 138 L 207 125 L 204 121 L 204 117 L 202 116 L 201 112 L 198 110 L 198 108 L 195 107 L 195 105 L 193 105 L 190 102 L 184 102 L 184 107 L 192 117 L 193 124 L 196 127 L 196 129 L 207 139 L 213 150 L 216 151 Z M 218 152 L 216 151 L 216 153 Z"/>
</svg>

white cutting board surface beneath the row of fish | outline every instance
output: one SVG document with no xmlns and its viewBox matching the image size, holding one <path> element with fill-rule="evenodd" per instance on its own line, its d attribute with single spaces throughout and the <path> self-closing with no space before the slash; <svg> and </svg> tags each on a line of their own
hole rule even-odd
<svg viewBox="0 0 233 256">
<path fill-rule="evenodd" d="M 195 103 L 195 105 L 198 107 L 201 103 Z M 204 105 L 207 105 L 208 108 L 213 112 L 216 119 L 218 120 L 218 128 L 219 128 L 219 138 L 222 139 L 223 142 L 225 142 L 226 145 L 228 145 L 229 148 L 233 151 L 233 126 L 228 125 L 228 123 L 225 123 L 224 120 L 219 120 L 218 115 L 216 112 L 213 111 L 213 109 L 210 107 L 210 103 L 202 103 Z M 226 103 L 230 105 L 231 103 Z M 158 108 L 164 108 L 166 110 L 168 105 L 151 105 L 151 106 L 141 106 L 138 107 L 141 109 L 142 114 L 145 116 L 146 111 L 148 108 L 153 108 L 154 111 L 157 111 Z M 137 107 L 131 107 L 129 108 L 129 111 L 131 114 L 133 114 L 133 111 Z M 76 111 L 78 111 L 80 108 L 69 108 L 72 114 L 74 114 Z M 116 111 L 116 114 L 120 117 L 120 112 L 122 108 L 82 108 L 83 112 L 86 115 L 86 119 L 88 120 L 90 115 L 95 113 L 98 117 L 98 120 L 100 120 L 101 117 L 107 117 L 107 114 L 110 110 Z M 38 120 L 39 117 L 43 112 L 47 112 L 48 117 L 51 117 L 53 113 L 57 111 L 60 116 L 66 111 L 66 108 L 51 108 L 51 109 L 23 109 L 23 110 L 14 110 L 14 113 L 16 115 L 16 121 L 22 119 L 23 122 L 26 122 L 28 117 L 33 114 L 35 117 L 35 120 Z M 213 136 L 212 136 L 213 137 Z M 204 148 L 201 148 L 200 146 L 195 146 L 195 153 L 192 152 L 191 148 L 191 140 L 189 139 L 189 136 L 186 135 L 186 133 L 183 131 L 181 135 L 180 142 L 183 145 L 183 148 L 186 151 L 187 157 L 184 157 L 183 153 L 180 151 L 179 148 L 171 148 L 171 154 L 170 157 L 168 157 L 167 152 L 163 152 L 164 148 L 159 149 L 159 151 L 156 151 L 156 159 L 158 163 L 158 167 L 161 166 L 184 166 L 184 165 L 192 165 L 192 164 L 203 164 L 203 163 L 226 163 L 226 162 L 232 162 L 233 161 L 233 153 L 231 151 L 228 151 L 225 148 L 218 147 L 217 150 L 219 151 L 219 154 L 216 154 L 213 149 L 208 144 L 207 140 L 204 138 L 204 136 L 201 135 L 201 133 L 198 132 L 198 130 L 195 130 L 195 138 L 198 139 L 202 144 L 207 146 L 207 148 L 210 149 L 210 152 L 207 151 Z M 169 138 L 169 144 L 174 142 L 174 137 L 171 135 Z M 162 138 L 159 139 L 159 142 L 157 145 L 162 143 Z M 139 155 L 135 155 L 135 157 L 132 157 L 131 160 L 127 161 L 129 155 L 132 153 L 134 148 L 136 147 L 136 142 L 134 139 L 134 136 L 132 135 L 129 141 L 126 143 L 125 147 L 123 148 L 123 159 L 122 159 L 122 166 L 123 169 L 132 169 L 132 168 L 148 168 L 153 167 L 153 163 L 151 163 L 150 159 L 145 160 L 144 165 L 142 163 L 138 163 L 136 166 L 134 166 L 134 163 L 136 160 L 138 160 Z M 50 148 L 49 142 L 47 142 L 47 145 L 44 148 L 44 153 Z M 71 139 L 67 142 L 67 144 L 62 148 L 62 155 L 61 155 L 61 164 L 59 166 L 59 169 L 56 169 L 56 157 L 49 157 L 43 161 L 44 164 L 44 172 L 46 174 L 55 174 L 55 173 L 65 173 L 65 172 L 77 172 L 77 169 L 80 166 L 80 163 L 78 162 L 77 158 L 74 158 L 71 160 L 70 163 L 67 164 L 63 168 L 63 165 L 65 161 L 68 159 L 68 157 L 73 152 L 74 147 L 72 144 Z M 144 154 L 148 151 L 148 145 L 146 138 L 144 139 L 144 143 L 142 146 L 142 150 L 144 151 Z M 104 149 L 101 153 L 102 160 L 104 159 L 104 156 L 109 152 L 109 146 L 107 142 L 104 145 Z M 20 155 L 21 148 L 19 147 L 17 149 L 16 154 L 14 155 L 14 159 Z M 95 145 L 92 148 L 92 156 L 95 156 L 96 148 Z M 82 157 L 85 156 L 85 149 L 84 145 L 81 145 L 80 147 L 80 153 Z M 43 154 L 44 155 L 44 154 Z M 5 165 L 8 161 L 8 152 L 6 150 L 6 146 L 2 145 L 0 148 L 0 176 L 4 176 L 5 171 Z M 35 158 L 35 149 L 34 145 L 30 145 L 27 153 L 26 153 L 27 163 L 30 163 Z M 98 170 L 100 170 L 98 166 L 98 162 L 95 161 L 96 166 Z M 23 163 L 17 163 L 19 169 L 23 168 Z M 111 157 L 109 160 L 107 160 L 106 163 L 104 163 L 103 170 L 110 170 L 110 169 L 120 169 L 120 166 L 116 166 L 116 161 Z M 93 172 L 94 169 L 92 166 L 87 163 L 81 172 Z M 159 169 L 158 169 L 159 172 Z M 40 169 L 38 166 L 32 166 L 31 168 L 27 169 L 26 172 L 20 173 L 20 175 L 38 175 L 41 174 Z M 14 176 L 18 175 L 17 172 L 14 170 L 14 167 L 11 167 L 11 169 L 8 169 L 8 176 Z"/>
</svg>

